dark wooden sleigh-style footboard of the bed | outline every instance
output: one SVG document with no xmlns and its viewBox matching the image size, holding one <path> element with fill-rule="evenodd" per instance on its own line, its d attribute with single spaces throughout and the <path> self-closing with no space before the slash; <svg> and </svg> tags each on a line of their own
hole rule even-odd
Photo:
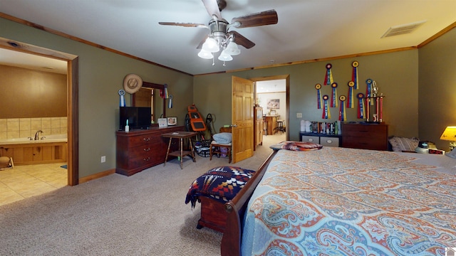
<svg viewBox="0 0 456 256">
<path fill-rule="evenodd" d="M 234 198 L 224 203 L 224 210 L 226 211 L 226 225 L 223 231 L 222 245 L 220 245 L 220 255 L 222 256 L 240 256 L 241 255 L 241 241 L 242 241 L 242 220 L 244 220 L 244 213 L 247 208 L 247 203 L 252 197 L 255 188 L 261 178 L 264 176 L 264 172 L 274 158 L 277 151 L 273 151 L 266 161 L 261 164 L 254 176 L 250 178 L 249 182 L 237 193 Z"/>
</svg>

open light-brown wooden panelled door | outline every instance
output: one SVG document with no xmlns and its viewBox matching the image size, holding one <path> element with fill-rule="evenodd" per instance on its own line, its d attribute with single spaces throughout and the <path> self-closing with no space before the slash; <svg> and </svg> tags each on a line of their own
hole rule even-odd
<svg viewBox="0 0 456 256">
<path fill-rule="evenodd" d="M 233 164 L 253 156 L 254 82 L 232 77 Z"/>
</svg>

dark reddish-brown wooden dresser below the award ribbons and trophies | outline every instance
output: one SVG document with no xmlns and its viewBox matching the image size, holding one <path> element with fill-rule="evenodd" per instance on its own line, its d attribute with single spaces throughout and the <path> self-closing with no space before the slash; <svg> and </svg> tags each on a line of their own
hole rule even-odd
<svg viewBox="0 0 456 256">
<path fill-rule="evenodd" d="M 343 147 L 388 150 L 387 124 L 342 124 Z"/>
</svg>

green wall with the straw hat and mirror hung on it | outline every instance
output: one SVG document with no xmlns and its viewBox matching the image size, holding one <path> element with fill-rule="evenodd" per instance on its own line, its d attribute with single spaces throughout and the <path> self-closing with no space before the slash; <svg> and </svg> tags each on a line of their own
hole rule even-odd
<svg viewBox="0 0 456 256">
<path fill-rule="evenodd" d="M 184 124 L 192 104 L 192 76 L 125 57 L 36 28 L 0 18 L 0 37 L 29 43 L 79 57 L 79 178 L 115 169 L 115 131 L 118 129 L 119 95 L 125 75 L 166 83 L 174 96 L 167 116 Z M 152 47 L 152 45 L 151 45 Z M 130 97 L 126 99 L 130 105 Z M 106 162 L 100 163 L 100 156 Z"/>
</svg>

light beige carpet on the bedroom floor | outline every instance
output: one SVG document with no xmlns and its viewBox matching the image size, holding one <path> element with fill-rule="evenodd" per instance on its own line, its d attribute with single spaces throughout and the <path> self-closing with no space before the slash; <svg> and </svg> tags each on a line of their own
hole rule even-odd
<svg viewBox="0 0 456 256">
<path fill-rule="evenodd" d="M 284 135 L 264 137 L 254 157 L 233 164 L 257 170 Z M 196 229 L 190 184 L 227 159 L 177 159 L 127 177 L 113 174 L 0 206 L 0 255 L 219 255 L 222 233 Z"/>
</svg>

